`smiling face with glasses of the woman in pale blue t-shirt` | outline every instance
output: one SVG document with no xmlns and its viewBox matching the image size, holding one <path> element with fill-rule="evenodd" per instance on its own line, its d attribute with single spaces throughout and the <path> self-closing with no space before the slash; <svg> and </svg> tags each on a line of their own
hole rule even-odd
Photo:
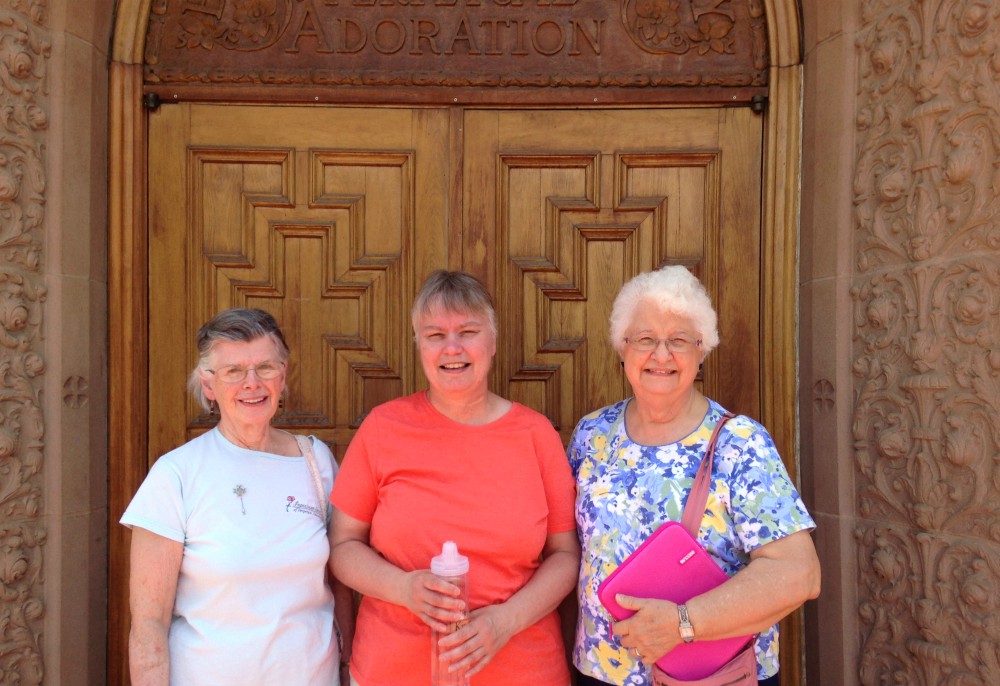
<svg viewBox="0 0 1000 686">
<path fill-rule="evenodd" d="M 223 421 L 238 424 L 267 424 L 271 421 L 278 411 L 287 369 L 281 363 L 278 346 L 270 336 L 261 336 L 249 342 L 217 341 L 207 361 L 208 369 L 214 373 L 200 372 L 202 389 L 206 398 L 218 403 Z M 256 372 L 259 365 L 276 365 L 281 371 L 272 379 L 261 379 Z M 227 368 L 248 371 L 241 381 L 227 382 L 221 378 Z"/>
</svg>

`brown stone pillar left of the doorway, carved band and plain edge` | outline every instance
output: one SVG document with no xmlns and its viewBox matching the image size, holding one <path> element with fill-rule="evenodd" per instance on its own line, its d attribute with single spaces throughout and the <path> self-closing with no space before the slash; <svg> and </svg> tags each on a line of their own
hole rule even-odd
<svg viewBox="0 0 1000 686">
<path fill-rule="evenodd" d="M 111 0 L 0 3 L 0 683 L 97 684 Z"/>
</svg>

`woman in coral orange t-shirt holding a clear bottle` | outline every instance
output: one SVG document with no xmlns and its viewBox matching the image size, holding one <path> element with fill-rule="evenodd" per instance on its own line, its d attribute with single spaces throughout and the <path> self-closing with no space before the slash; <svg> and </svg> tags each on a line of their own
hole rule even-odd
<svg viewBox="0 0 1000 686">
<path fill-rule="evenodd" d="M 475 686 L 567 686 L 556 607 L 580 549 L 574 485 L 543 415 L 492 393 L 496 315 L 461 272 L 435 272 L 413 306 L 429 389 L 376 407 L 333 491 L 334 574 L 363 595 L 351 656 L 359 686 L 426 686 L 432 630 Z M 429 571 L 445 541 L 470 561 L 469 607 Z"/>
</svg>

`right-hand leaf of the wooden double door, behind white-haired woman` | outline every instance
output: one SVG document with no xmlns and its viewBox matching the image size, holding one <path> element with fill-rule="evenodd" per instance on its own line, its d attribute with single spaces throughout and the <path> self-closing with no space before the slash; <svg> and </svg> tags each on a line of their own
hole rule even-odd
<svg viewBox="0 0 1000 686">
<path fill-rule="evenodd" d="M 472 110 L 464 140 L 463 256 L 498 295 L 498 392 L 568 441 L 584 413 L 629 394 L 607 334 L 618 289 L 675 263 L 719 313 L 704 390 L 760 416 L 761 117 Z"/>
</svg>

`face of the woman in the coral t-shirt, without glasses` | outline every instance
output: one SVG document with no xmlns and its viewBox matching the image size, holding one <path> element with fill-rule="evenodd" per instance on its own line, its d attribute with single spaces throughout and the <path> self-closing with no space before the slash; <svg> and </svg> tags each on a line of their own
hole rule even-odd
<svg viewBox="0 0 1000 686">
<path fill-rule="evenodd" d="M 433 306 L 414 323 L 420 362 L 432 391 L 461 394 L 488 388 L 497 345 L 486 313 Z"/>
</svg>

